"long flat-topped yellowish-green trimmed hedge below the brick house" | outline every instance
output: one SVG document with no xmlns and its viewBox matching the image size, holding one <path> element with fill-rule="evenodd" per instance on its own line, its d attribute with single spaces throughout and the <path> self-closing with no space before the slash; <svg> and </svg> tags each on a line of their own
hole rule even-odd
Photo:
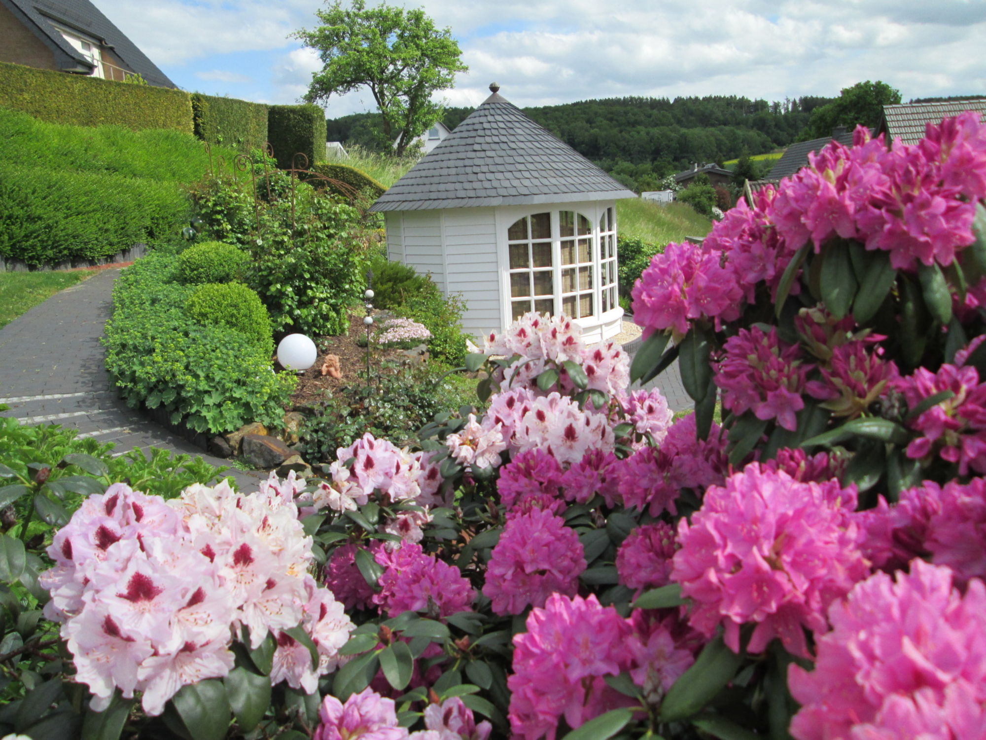
<svg viewBox="0 0 986 740">
<path fill-rule="evenodd" d="M 23 64 L 0 62 L 0 106 L 52 123 L 192 133 L 191 96 L 182 90 L 124 85 Z"/>
</svg>

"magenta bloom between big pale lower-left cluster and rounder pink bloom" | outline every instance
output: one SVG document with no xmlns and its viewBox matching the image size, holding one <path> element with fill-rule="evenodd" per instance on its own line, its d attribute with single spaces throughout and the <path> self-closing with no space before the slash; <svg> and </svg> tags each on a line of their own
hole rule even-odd
<svg viewBox="0 0 986 740">
<path fill-rule="evenodd" d="M 392 553 L 377 551 L 376 557 L 385 570 L 373 603 L 389 617 L 412 611 L 441 619 L 472 611 L 475 592 L 469 581 L 455 565 L 426 554 L 420 545 L 405 542 Z"/>
</svg>

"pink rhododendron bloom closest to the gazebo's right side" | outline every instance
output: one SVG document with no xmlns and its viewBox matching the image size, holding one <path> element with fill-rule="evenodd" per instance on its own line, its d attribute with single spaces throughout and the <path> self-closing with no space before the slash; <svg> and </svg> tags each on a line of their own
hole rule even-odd
<svg viewBox="0 0 986 740">
<path fill-rule="evenodd" d="M 644 334 L 672 330 L 683 335 L 696 319 L 735 321 L 742 290 L 720 264 L 721 253 L 693 244 L 669 244 L 655 255 L 633 286 L 634 321 Z"/>
</svg>

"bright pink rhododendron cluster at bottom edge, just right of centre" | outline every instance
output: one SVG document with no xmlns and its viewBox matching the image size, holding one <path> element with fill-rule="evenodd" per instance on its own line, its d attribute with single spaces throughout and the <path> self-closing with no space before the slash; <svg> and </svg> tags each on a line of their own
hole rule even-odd
<svg viewBox="0 0 986 740">
<path fill-rule="evenodd" d="M 530 612 L 527 627 L 514 637 L 514 673 L 507 679 L 511 729 L 524 740 L 554 740 L 561 717 L 576 728 L 632 705 L 605 676 L 628 671 L 657 705 L 693 662 L 664 624 L 641 610 L 625 620 L 595 595 L 552 594 L 543 609 Z"/>
</svg>

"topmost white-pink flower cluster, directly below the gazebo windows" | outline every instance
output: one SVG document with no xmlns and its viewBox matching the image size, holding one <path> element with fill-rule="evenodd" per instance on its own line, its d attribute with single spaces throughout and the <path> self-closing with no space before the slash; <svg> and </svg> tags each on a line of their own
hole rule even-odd
<svg viewBox="0 0 986 740">
<path fill-rule="evenodd" d="M 613 342 L 587 347 L 582 341 L 582 328 L 563 316 L 527 313 L 506 332 L 487 336 L 483 351 L 521 357 L 521 361 L 507 370 L 496 371 L 494 378 L 504 391 L 527 388 L 539 393 L 537 376 L 553 366 L 558 370 L 559 390 L 570 393 L 575 385 L 564 367 L 564 363 L 569 361 L 582 366 L 589 381 L 588 388 L 604 393 L 616 393 L 625 388 L 630 379 L 630 362 L 622 347 Z"/>
</svg>

